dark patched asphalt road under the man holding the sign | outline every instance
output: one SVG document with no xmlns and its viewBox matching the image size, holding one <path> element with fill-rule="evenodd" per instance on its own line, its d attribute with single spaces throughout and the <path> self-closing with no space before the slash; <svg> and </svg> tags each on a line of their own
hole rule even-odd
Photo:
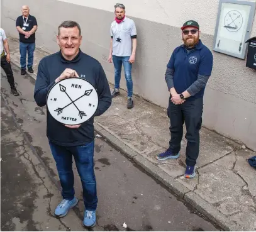
<svg viewBox="0 0 256 232">
<path fill-rule="evenodd" d="M 1 230 L 82 231 L 84 204 L 76 170 L 79 204 L 65 218 L 53 216 L 61 196 L 45 136 L 46 110 L 33 99 L 35 80 L 21 76 L 15 65 L 13 72 L 18 97 L 10 94 L 1 72 Z M 99 198 L 94 231 L 219 230 L 97 136 L 94 158 Z"/>
</svg>

